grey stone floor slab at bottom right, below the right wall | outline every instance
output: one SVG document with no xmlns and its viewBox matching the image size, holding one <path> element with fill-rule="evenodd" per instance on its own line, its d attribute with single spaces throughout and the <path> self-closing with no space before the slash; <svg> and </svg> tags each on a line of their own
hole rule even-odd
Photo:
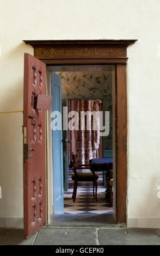
<svg viewBox="0 0 160 256">
<path fill-rule="evenodd" d="M 160 245 L 154 229 L 99 229 L 100 245 Z"/>
</svg>

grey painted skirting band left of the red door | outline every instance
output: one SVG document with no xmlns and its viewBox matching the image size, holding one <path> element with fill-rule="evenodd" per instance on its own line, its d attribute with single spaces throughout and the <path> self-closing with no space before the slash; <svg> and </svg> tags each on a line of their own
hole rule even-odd
<svg viewBox="0 0 160 256">
<path fill-rule="evenodd" d="M 23 228 L 23 218 L 0 217 L 0 228 Z"/>
</svg>

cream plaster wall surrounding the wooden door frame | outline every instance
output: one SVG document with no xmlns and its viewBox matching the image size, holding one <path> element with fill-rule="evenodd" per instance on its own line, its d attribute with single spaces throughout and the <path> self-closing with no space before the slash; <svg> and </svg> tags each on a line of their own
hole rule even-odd
<svg viewBox="0 0 160 256">
<path fill-rule="evenodd" d="M 159 227 L 159 0 L 0 0 L 0 111 L 23 108 L 23 39 L 138 39 L 128 48 L 128 227 Z M 1 226 L 21 225 L 22 113 L 1 118 Z"/>
</svg>

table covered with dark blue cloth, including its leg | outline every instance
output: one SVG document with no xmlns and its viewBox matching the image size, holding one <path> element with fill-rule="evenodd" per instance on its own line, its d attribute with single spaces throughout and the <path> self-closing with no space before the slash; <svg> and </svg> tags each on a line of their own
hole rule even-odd
<svg viewBox="0 0 160 256">
<path fill-rule="evenodd" d="M 112 157 L 110 158 L 99 158 L 99 159 L 91 159 L 89 160 L 89 164 L 90 164 L 90 170 L 91 172 L 95 175 L 95 172 L 105 172 L 105 176 L 106 176 L 106 198 L 109 198 L 109 194 L 110 194 L 110 188 L 109 188 L 109 179 L 111 177 L 110 171 L 113 169 L 113 159 Z"/>
</svg>

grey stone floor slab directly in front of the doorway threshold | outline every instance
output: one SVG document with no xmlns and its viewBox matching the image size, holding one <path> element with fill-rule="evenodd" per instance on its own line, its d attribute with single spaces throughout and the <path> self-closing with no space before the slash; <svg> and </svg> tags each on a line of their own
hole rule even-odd
<svg viewBox="0 0 160 256">
<path fill-rule="evenodd" d="M 34 245 L 96 245 L 96 230 L 41 229 Z"/>
</svg>

